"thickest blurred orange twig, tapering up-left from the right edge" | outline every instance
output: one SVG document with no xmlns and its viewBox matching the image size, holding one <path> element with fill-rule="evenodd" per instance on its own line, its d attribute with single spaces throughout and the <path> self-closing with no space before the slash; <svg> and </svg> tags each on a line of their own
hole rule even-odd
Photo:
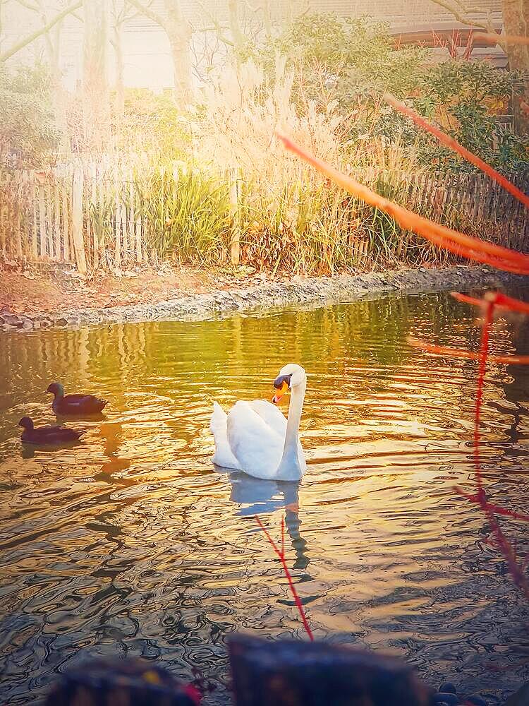
<svg viewBox="0 0 529 706">
<path fill-rule="evenodd" d="M 318 172 L 335 181 L 336 184 L 339 184 L 339 186 L 346 189 L 346 191 L 353 194 L 353 196 L 361 198 L 366 203 L 384 211 L 384 213 L 388 213 L 404 229 L 412 230 L 434 244 L 468 259 L 486 263 L 487 265 L 492 265 L 501 270 L 507 270 L 508 272 L 529 274 L 528 256 L 514 250 L 509 250 L 509 248 L 482 241 L 479 238 L 464 235 L 454 229 L 439 225 L 427 218 L 417 215 L 407 208 L 403 208 L 403 206 L 380 196 L 352 177 L 341 174 L 341 172 L 334 169 L 330 164 L 311 155 L 310 152 L 296 145 L 296 143 L 293 143 L 292 140 L 286 136 L 278 134 L 278 137 L 287 150 L 298 155 L 305 160 L 305 162 L 308 162 L 308 164 L 312 164 Z"/>
</svg>

